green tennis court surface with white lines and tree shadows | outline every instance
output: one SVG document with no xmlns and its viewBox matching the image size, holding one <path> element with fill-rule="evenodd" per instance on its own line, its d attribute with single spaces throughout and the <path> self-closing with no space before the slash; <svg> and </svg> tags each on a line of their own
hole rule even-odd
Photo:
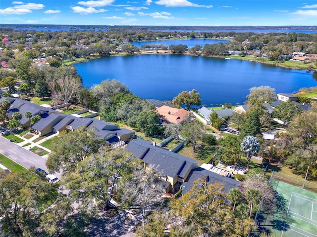
<svg viewBox="0 0 317 237">
<path fill-rule="evenodd" d="M 276 191 L 276 207 L 263 205 L 260 229 L 276 237 L 317 237 L 317 194 L 299 187 L 271 181 Z"/>
</svg>

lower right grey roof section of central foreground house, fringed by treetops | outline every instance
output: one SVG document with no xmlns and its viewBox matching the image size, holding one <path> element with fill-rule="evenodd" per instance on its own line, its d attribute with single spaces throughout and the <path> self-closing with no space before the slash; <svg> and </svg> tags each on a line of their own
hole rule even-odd
<svg viewBox="0 0 317 237">
<path fill-rule="evenodd" d="M 228 193 L 230 189 L 239 187 L 239 185 L 241 184 L 241 182 L 239 181 L 224 177 L 220 174 L 216 174 L 214 172 L 211 172 L 210 170 L 199 167 L 192 169 L 192 171 L 188 175 L 186 182 L 183 183 L 183 186 L 185 186 L 185 188 L 183 189 L 182 194 L 186 194 L 193 188 L 194 181 L 202 179 L 206 176 L 209 177 L 209 182 L 211 184 L 214 184 L 215 182 L 221 183 L 224 186 L 226 193 Z"/>
</svg>

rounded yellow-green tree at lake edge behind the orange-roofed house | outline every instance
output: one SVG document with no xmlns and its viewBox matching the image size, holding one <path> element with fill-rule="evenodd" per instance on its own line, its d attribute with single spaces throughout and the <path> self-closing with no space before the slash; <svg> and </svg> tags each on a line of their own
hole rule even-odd
<svg viewBox="0 0 317 237">
<path fill-rule="evenodd" d="M 190 111 L 190 107 L 193 105 L 199 106 L 202 102 L 199 92 L 195 89 L 191 91 L 182 91 L 174 99 L 173 104 L 177 106 L 185 105 L 186 109 Z"/>
</svg>

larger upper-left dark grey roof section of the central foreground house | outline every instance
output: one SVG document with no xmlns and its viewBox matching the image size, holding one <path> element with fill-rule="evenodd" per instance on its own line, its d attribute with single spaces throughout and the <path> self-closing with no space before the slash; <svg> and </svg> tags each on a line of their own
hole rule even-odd
<svg viewBox="0 0 317 237">
<path fill-rule="evenodd" d="M 151 142 L 133 139 L 126 146 L 135 157 L 142 159 L 148 165 L 152 165 L 162 175 L 174 177 L 178 175 L 184 178 L 192 165 L 198 166 L 198 161 L 170 152 L 159 146 L 153 146 Z"/>
</svg>

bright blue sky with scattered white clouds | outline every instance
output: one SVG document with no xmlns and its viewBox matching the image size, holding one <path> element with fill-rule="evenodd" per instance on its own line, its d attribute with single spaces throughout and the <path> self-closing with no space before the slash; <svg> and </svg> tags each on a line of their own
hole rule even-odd
<svg viewBox="0 0 317 237">
<path fill-rule="evenodd" d="M 316 26 L 317 0 L 0 0 L 0 23 Z"/>
</svg>

